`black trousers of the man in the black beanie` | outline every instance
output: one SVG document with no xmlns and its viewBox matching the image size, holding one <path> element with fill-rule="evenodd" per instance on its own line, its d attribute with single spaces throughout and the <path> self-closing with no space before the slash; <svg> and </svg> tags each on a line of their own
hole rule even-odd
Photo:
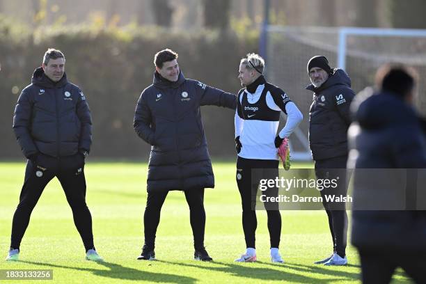
<svg viewBox="0 0 426 284">
<path fill-rule="evenodd" d="M 347 246 L 347 213 L 344 205 L 336 205 L 326 202 L 325 195 L 347 194 L 346 187 L 346 163 L 347 156 L 331 159 L 315 160 L 315 175 L 317 179 L 338 178 L 337 189 L 323 189 L 320 191 L 323 198 L 322 204 L 329 218 L 331 238 L 333 239 L 333 251 L 341 257 L 346 255 Z"/>
</svg>

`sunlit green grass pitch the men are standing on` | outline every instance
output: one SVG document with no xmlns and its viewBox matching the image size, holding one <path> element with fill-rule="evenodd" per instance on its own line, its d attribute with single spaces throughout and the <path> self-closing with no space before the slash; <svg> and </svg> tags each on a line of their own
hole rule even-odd
<svg viewBox="0 0 426 284">
<path fill-rule="evenodd" d="M 146 173 L 146 164 L 89 161 L 86 165 L 87 203 L 93 216 L 95 246 L 105 262 L 84 260 L 70 207 L 57 180 L 53 180 L 31 215 L 22 241 L 21 261 L 0 260 L 0 269 L 53 269 L 54 281 L 48 283 L 359 283 L 359 260 L 352 246 L 347 250 L 350 265 L 346 267 L 313 265 L 331 253 L 324 211 L 281 212 L 284 265 L 269 261 L 266 214 L 259 211 L 259 261 L 233 262 L 244 252 L 245 245 L 235 164 L 226 162 L 214 163 L 216 188 L 205 191 L 205 245 L 214 262 L 192 260 L 189 209 L 178 191 L 168 195 L 161 212 L 158 260 L 136 260 L 143 242 Z M 0 163 L 0 248 L 4 257 L 23 178 L 23 163 Z M 407 282 L 400 271 L 394 277 L 393 283 Z"/>
</svg>

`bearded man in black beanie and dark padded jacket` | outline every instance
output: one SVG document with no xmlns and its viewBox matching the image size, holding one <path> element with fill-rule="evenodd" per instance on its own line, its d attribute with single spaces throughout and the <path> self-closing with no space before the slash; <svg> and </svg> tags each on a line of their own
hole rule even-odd
<svg viewBox="0 0 426 284">
<path fill-rule="evenodd" d="M 344 205 L 326 201 L 326 195 L 346 195 L 347 129 L 351 124 L 349 106 L 354 98 L 351 79 L 338 68 L 331 68 L 325 56 L 308 61 L 307 71 L 313 91 L 309 110 L 309 146 L 315 161 L 317 179 L 340 179 L 337 189 L 323 189 L 324 209 L 329 219 L 333 253 L 317 265 L 347 265 L 347 213 Z"/>
</svg>

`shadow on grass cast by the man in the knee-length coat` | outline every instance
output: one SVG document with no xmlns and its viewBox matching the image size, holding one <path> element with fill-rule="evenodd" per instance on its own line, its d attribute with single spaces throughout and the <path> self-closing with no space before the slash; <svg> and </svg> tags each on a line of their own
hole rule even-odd
<svg viewBox="0 0 426 284">
<path fill-rule="evenodd" d="M 313 269 L 301 268 L 294 269 L 302 274 L 292 273 L 291 269 L 285 265 L 272 265 L 272 268 L 258 267 L 258 264 L 265 265 L 265 262 L 257 263 L 245 263 L 245 264 L 233 264 L 226 262 L 197 262 L 197 264 L 190 263 L 180 263 L 180 262 L 168 262 L 165 260 L 157 260 L 158 262 L 163 262 L 170 265 L 181 265 L 184 267 L 196 267 L 200 269 L 207 269 L 210 271 L 219 271 L 230 276 L 237 276 L 242 278 L 258 279 L 259 281 L 289 281 L 296 283 L 331 283 L 338 281 L 356 281 L 358 279 L 358 274 L 340 271 L 340 273 L 333 274 L 333 271 L 324 271 L 324 274 L 331 276 L 332 278 L 319 279 L 308 274 L 318 273 Z M 269 264 L 268 264 L 269 265 Z M 216 267 L 215 267 L 216 266 Z"/>
</svg>

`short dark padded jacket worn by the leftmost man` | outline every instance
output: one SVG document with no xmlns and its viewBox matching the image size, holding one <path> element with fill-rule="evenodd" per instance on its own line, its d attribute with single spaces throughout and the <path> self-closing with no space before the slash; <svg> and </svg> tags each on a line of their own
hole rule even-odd
<svg viewBox="0 0 426 284">
<path fill-rule="evenodd" d="M 19 95 L 13 130 L 27 158 L 38 152 L 52 157 L 89 152 L 92 119 L 86 97 L 66 74 L 54 83 L 37 68 Z"/>
</svg>

